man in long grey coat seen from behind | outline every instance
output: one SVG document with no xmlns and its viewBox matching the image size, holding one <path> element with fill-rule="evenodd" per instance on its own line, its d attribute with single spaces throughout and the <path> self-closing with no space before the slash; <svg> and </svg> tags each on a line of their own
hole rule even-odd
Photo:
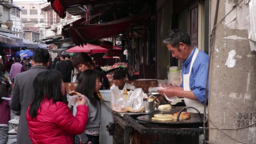
<svg viewBox="0 0 256 144">
<path fill-rule="evenodd" d="M 12 88 L 12 98 L 10 99 L 10 108 L 17 111 L 19 118 L 19 128 L 17 133 L 17 144 L 31 144 L 28 135 L 28 124 L 26 112 L 33 96 L 33 82 L 37 74 L 48 70 L 49 52 L 46 49 L 36 49 L 33 55 L 32 65 L 29 71 L 16 75 Z"/>
</svg>

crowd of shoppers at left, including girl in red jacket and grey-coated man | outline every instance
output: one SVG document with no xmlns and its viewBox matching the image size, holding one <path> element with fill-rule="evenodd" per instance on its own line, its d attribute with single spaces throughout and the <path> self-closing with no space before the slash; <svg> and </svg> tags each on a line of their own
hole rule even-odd
<svg viewBox="0 0 256 144">
<path fill-rule="evenodd" d="M 4 114 L 0 143 L 7 143 L 12 110 L 19 116 L 17 144 L 99 144 L 101 106 L 97 93 L 110 85 L 106 74 L 94 66 L 86 53 L 60 55 L 52 61 L 46 49 L 36 49 L 33 58 L 15 58 L 6 64 L 13 86 L 8 81 L 0 83 L 0 113 Z M 73 111 L 67 105 L 65 82 L 77 82 L 76 91 L 82 94 Z"/>
</svg>

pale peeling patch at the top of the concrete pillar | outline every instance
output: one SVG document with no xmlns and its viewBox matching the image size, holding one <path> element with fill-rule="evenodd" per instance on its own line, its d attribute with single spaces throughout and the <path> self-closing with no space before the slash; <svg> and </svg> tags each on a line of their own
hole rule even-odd
<svg viewBox="0 0 256 144">
<path fill-rule="evenodd" d="M 240 2 L 240 1 L 239 1 Z M 226 0 L 225 14 L 227 15 L 238 3 L 237 0 Z M 241 2 L 225 18 L 225 25 L 230 29 L 247 30 L 246 16 L 249 15 L 248 1 Z"/>
</svg>

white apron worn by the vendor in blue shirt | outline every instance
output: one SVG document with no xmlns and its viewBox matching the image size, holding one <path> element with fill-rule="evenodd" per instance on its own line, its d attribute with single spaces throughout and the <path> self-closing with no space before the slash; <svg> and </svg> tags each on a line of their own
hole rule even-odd
<svg viewBox="0 0 256 144">
<path fill-rule="evenodd" d="M 194 61 L 195 61 L 195 58 L 196 58 L 198 52 L 199 52 L 199 49 L 196 48 L 195 53 L 191 60 L 189 73 L 183 74 L 183 90 L 184 91 L 191 91 L 190 86 L 189 86 L 189 77 L 190 77 L 191 69 L 193 67 L 193 64 L 194 64 Z M 186 107 L 194 107 L 194 108 L 198 109 L 200 111 L 200 113 L 204 113 L 204 105 L 201 102 L 195 101 L 192 99 L 188 99 L 188 98 L 184 98 L 184 101 L 185 101 Z M 197 113 L 197 111 L 192 108 L 188 108 L 187 111 L 189 113 Z M 208 106 L 206 106 L 206 113 L 208 113 Z"/>
</svg>

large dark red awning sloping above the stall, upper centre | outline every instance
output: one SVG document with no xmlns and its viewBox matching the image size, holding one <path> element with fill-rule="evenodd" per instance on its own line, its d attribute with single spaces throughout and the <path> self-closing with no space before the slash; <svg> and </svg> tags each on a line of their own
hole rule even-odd
<svg viewBox="0 0 256 144">
<path fill-rule="evenodd" d="M 72 27 L 70 24 L 65 25 L 62 29 L 62 35 L 73 38 L 73 42 L 76 43 L 76 45 L 83 45 L 83 43 L 87 43 L 92 40 L 121 34 L 129 27 L 144 24 L 143 20 L 147 18 L 148 14 L 149 12 L 146 12 L 101 24 L 84 25 L 80 23 L 82 20 L 77 20 L 79 22 L 75 21 L 71 23 L 73 25 Z"/>
</svg>

